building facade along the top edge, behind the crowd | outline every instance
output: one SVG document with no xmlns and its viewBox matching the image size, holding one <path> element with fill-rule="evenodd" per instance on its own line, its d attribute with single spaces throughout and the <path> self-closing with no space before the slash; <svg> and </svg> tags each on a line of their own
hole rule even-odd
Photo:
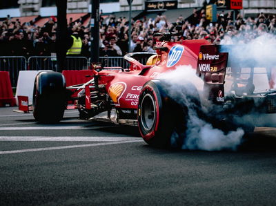
<svg viewBox="0 0 276 206">
<path fill-rule="evenodd" d="M 159 2 L 168 3 L 172 0 L 133 0 L 132 10 L 145 10 L 146 3 Z M 200 8 L 206 0 L 174 0 L 177 2 L 177 8 Z M 210 1 L 210 0 L 207 0 Z M 229 1 L 229 0 L 220 0 Z M 7 3 L 8 2 L 8 3 Z M 90 12 L 91 0 L 68 0 L 68 13 Z M 265 14 L 276 14 L 276 0 L 243 0 L 244 15 L 257 15 L 260 12 Z M 103 13 L 126 12 L 129 10 L 127 0 L 100 0 L 100 10 Z M 10 14 L 14 17 L 28 17 L 32 15 L 50 16 L 56 15 L 55 0 L 19 0 L 10 3 L 10 1 L 1 1 L 0 16 L 6 17 Z M 10 12 L 10 13 L 9 13 Z M 16 15 L 14 15 L 16 14 Z"/>
</svg>

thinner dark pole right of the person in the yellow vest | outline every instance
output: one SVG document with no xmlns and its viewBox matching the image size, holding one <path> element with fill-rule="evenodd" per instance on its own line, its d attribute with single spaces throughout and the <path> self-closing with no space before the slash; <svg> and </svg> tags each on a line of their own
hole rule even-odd
<svg viewBox="0 0 276 206">
<path fill-rule="evenodd" d="M 91 3 L 91 62 L 99 62 L 99 0 Z"/>
</svg>

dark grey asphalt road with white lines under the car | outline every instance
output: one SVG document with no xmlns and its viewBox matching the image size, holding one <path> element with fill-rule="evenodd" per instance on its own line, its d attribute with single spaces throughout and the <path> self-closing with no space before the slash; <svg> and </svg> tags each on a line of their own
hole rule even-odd
<svg viewBox="0 0 276 206">
<path fill-rule="evenodd" d="M 0 205 L 275 205 L 276 130 L 238 151 L 148 147 L 135 127 L 0 108 Z"/>
</svg>

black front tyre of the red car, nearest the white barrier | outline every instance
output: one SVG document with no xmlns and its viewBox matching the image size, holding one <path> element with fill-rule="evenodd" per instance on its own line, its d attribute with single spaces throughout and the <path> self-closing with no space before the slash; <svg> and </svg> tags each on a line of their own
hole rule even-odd
<svg viewBox="0 0 276 206">
<path fill-rule="evenodd" d="M 34 81 L 34 119 L 43 123 L 59 122 L 66 109 L 66 83 L 57 72 L 41 72 Z"/>
</svg>

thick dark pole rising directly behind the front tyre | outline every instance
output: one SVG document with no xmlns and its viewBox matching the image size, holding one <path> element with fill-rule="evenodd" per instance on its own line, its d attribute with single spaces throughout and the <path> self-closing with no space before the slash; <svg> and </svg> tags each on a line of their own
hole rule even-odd
<svg viewBox="0 0 276 206">
<path fill-rule="evenodd" d="M 57 6 L 57 71 L 62 72 L 65 68 L 66 52 L 67 52 L 67 0 L 56 0 Z"/>
</svg>

